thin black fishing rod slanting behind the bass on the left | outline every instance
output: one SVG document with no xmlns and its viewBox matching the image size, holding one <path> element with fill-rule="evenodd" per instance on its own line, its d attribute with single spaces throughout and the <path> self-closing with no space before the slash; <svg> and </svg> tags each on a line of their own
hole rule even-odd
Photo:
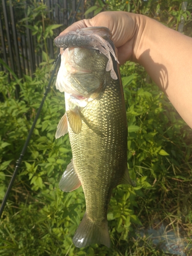
<svg viewBox="0 0 192 256">
<path fill-rule="evenodd" d="M 74 21 L 75 21 L 75 16 L 76 16 L 77 11 L 78 11 L 78 9 L 79 9 L 80 3 L 81 3 L 81 0 L 79 0 L 79 2 L 78 2 L 76 11 L 75 11 L 75 13 L 74 13 L 74 15 L 73 15 L 73 19 L 72 19 L 71 25 L 72 25 L 72 24 L 74 23 Z M 5 196 L 4 196 L 4 199 L 3 199 L 2 204 L 1 204 L 1 207 L 0 207 L 0 218 L 1 218 L 2 214 L 3 214 L 3 211 L 4 211 L 4 208 L 5 208 L 7 199 L 8 199 L 8 197 L 9 197 L 9 193 L 10 193 L 10 191 L 11 191 L 11 188 L 12 188 L 13 183 L 14 183 L 14 181 L 15 181 L 15 178 L 16 178 L 16 176 L 17 176 L 18 169 L 19 169 L 20 164 L 22 163 L 22 159 L 23 159 L 23 157 L 24 157 L 24 155 L 25 155 L 25 153 L 26 153 L 27 146 L 28 146 L 28 144 L 29 144 L 31 135 L 33 134 L 33 130 L 34 130 L 34 128 L 35 128 L 35 125 L 36 125 L 37 119 L 38 119 L 38 117 L 39 117 L 39 114 L 40 114 L 40 112 L 41 112 L 42 106 L 44 105 L 45 99 L 46 99 L 46 97 L 47 97 L 47 95 L 48 95 L 48 92 L 49 92 L 49 89 L 50 89 L 50 87 L 51 87 L 51 83 L 52 83 L 53 77 L 54 77 L 54 75 L 55 75 L 55 71 L 56 71 L 56 69 L 57 69 L 58 63 L 60 63 L 60 61 L 58 61 L 58 60 L 60 60 L 60 57 L 61 57 L 61 56 L 60 56 L 60 53 L 59 53 L 59 54 L 57 55 L 56 59 L 55 59 L 54 64 L 53 64 L 53 65 L 55 65 L 55 68 L 54 68 L 54 70 L 53 70 L 53 72 L 52 72 L 52 75 L 51 75 L 51 78 L 50 78 L 50 80 L 49 80 L 48 86 L 47 86 L 46 91 L 45 91 L 45 93 L 44 93 L 44 96 L 43 96 L 43 98 L 42 98 L 42 100 L 41 100 L 39 109 L 38 109 L 38 111 L 37 111 L 37 114 L 36 114 L 36 116 L 35 116 L 35 119 L 34 119 L 34 121 L 33 121 L 32 126 L 31 126 L 31 130 L 30 130 L 30 132 L 29 132 L 29 134 L 28 134 L 28 137 L 27 137 L 27 140 L 26 140 L 26 142 L 25 142 L 25 144 L 24 144 L 24 146 L 23 146 L 22 152 L 20 153 L 19 159 L 16 161 L 16 166 L 15 166 L 13 175 L 12 175 L 12 177 L 11 177 L 11 180 L 10 180 L 10 182 L 9 182 L 9 185 L 8 185 L 8 188 L 7 188 L 7 191 L 6 191 L 6 194 L 5 194 Z"/>
</svg>

